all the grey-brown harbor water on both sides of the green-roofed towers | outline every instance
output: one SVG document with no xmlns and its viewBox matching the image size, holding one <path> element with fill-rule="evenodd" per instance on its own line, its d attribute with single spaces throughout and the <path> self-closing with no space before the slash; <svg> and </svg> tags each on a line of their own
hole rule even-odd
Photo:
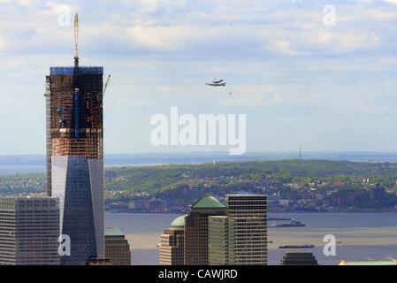
<svg viewBox="0 0 397 283">
<path fill-rule="evenodd" d="M 308 249 L 319 264 L 338 264 L 341 259 L 382 259 L 397 257 L 397 213 L 278 213 L 270 217 L 295 218 L 305 227 L 269 228 L 269 264 L 279 264 L 285 249 L 279 244 L 313 243 Z M 132 264 L 157 264 L 156 243 L 174 214 L 105 213 L 106 226 L 118 226 L 136 240 L 132 247 Z M 270 221 L 271 223 L 271 221 Z M 324 256 L 323 236 L 332 233 L 337 241 L 336 256 Z M 130 240 L 129 240 L 130 241 Z M 306 249 L 303 249 L 305 251 Z"/>
</svg>

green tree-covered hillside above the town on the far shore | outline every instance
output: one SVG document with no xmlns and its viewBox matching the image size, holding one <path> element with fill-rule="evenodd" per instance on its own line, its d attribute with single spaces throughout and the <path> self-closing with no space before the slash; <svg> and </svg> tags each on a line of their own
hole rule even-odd
<svg viewBox="0 0 397 283">
<path fill-rule="evenodd" d="M 217 179 L 216 184 L 213 184 L 215 187 L 222 187 L 226 183 L 243 184 L 249 180 L 286 182 L 324 177 L 344 180 L 347 176 L 370 177 L 386 187 L 393 187 L 397 178 L 397 164 L 283 160 L 113 167 L 105 170 L 105 190 L 156 194 L 180 186 L 200 187 L 202 180 L 206 180 L 207 186 L 210 186 L 211 179 Z M 40 192 L 45 192 L 45 174 L 0 177 L 0 195 Z"/>
</svg>

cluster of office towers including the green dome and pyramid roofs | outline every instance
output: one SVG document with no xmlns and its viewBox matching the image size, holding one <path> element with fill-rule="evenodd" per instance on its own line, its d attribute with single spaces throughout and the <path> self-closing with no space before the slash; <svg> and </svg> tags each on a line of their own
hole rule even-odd
<svg viewBox="0 0 397 283">
<path fill-rule="evenodd" d="M 160 265 L 267 265 L 265 195 L 202 196 L 160 238 Z"/>
</svg>

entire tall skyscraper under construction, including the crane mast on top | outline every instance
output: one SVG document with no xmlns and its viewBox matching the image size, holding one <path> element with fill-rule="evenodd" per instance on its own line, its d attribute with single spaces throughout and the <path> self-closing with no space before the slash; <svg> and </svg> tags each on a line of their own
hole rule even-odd
<svg viewBox="0 0 397 283">
<path fill-rule="evenodd" d="M 47 189 L 71 241 L 61 264 L 80 265 L 104 257 L 103 67 L 79 65 L 77 15 L 74 24 L 74 66 L 46 77 Z"/>
</svg>

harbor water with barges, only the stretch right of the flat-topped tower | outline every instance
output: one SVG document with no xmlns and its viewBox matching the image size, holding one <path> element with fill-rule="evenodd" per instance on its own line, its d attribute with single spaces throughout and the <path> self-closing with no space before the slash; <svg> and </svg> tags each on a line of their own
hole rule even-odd
<svg viewBox="0 0 397 283">
<path fill-rule="evenodd" d="M 283 240 L 282 244 L 315 244 L 312 252 L 319 264 L 334 265 L 342 259 L 397 258 L 397 213 L 277 213 L 270 217 L 295 218 L 305 227 L 269 228 L 269 240 Z M 269 221 L 271 224 L 272 221 Z M 325 234 L 333 234 L 336 256 L 324 256 Z M 394 240 L 394 239 L 395 240 Z M 276 247 L 274 247 L 276 246 Z M 269 264 L 279 264 L 286 249 L 278 244 L 269 249 Z"/>
</svg>

